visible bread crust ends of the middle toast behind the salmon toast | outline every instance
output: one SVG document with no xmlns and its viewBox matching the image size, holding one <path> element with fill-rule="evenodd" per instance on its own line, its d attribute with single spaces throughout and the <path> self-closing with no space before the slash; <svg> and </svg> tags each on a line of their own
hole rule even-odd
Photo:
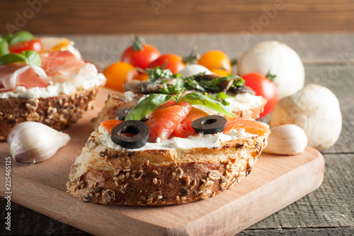
<svg viewBox="0 0 354 236">
<path fill-rule="evenodd" d="M 267 101 L 263 99 L 263 104 L 262 106 L 257 106 L 255 108 L 251 108 L 246 111 L 234 111 L 234 115 L 236 117 L 240 118 L 252 118 L 252 119 L 258 119 L 259 115 L 263 112 L 263 108 L 265 106 L 265 103 Z M 113 120 L 117 118 L 117 110 L 122 107 L 134 107 L 136 104 L 131 104 L 127 103 L 124 100 L 124 95 L 123 94 L 111 94 L 108 97 L 108 100 L 105 101 L 105 106 L 101 110 L 100 113 L 98 113 L 98 116 L 96 118 L 93 118 L 91 120 L 91 125 L 93 126 L 94 130 L 98 130 L 98 126 L 100 126 L 100 122 L 103 120 Z"/>
</svg>

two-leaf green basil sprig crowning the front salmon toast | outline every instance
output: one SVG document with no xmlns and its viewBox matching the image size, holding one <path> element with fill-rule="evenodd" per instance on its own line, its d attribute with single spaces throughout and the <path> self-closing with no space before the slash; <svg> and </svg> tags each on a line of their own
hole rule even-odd
<svg viewBox="0 0 354 236">
<path fill-rule="evenodd" d="M 210 110 L 217 111 L 225 116 L 234 117 L 234 114 L 229 111 L 222 103 L 215 101 L 200 94 L 199 92 L 193 92 L 181 96 L 181 91 L 176 96 L 166 95 L 166 94 L 152 94 L 146 99 L 140 101 L 135 108 L 130 111 L 125 120 L 141 120 L 145 116 L 149 115 L 154 109 L 158 108 L 162 104 L 170 101 L 187 101 L 192 105 L 200 105 L 209 108 Z"/>
</svg>

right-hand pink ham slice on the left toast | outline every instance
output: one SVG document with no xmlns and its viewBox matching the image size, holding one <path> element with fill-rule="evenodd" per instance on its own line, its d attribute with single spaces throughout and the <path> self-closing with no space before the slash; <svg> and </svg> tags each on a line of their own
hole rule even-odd
<svg viewBox="0 0 354 236">
<path fill-rule="evenodd" d="M 85 64 L 69 51 L 52 51 L 42 55 L 42 68 L 48 76 L 61 75 L 73 79 Z"/>
</svg>

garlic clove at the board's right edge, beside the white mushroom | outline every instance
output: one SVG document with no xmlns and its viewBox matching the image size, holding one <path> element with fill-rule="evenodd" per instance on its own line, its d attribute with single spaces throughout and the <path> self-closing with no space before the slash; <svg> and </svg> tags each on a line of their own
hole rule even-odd
<svg viewBox="0 0 354 236">
<path fill-rule="evenodd" d="M 268 145 L 263 152 L 295 155 L 304 152 L 307 135 L 297 125 L 280 125 L 270 129 Z"/>
</svg>

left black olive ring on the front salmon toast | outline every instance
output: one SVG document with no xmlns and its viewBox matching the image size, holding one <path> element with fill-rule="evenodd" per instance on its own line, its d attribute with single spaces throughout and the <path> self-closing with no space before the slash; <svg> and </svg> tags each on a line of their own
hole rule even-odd
<svg viewBox="0 0 354 236">
<path fill-rule="evenodd" d="M 139 120 L 127 120 L 113 128 L 110 139 L 127 149 L 144 147 L 149 139 L 149 126 Z"/>
</svg>

